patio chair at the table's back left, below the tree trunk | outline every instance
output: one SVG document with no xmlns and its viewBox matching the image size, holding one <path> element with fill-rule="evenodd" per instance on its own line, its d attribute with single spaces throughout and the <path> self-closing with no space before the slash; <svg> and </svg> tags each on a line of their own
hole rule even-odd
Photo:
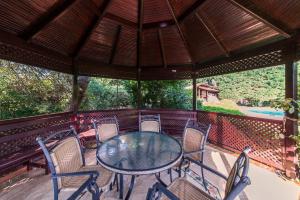
<svg viewBox="0 0 300 200">
<path fill-rule="evenodd" d="M 102 142 L 119 134 L 119 123 L 116 116 L 93 120 L 92 123 L 96 134 L 97 149 Z"/>
</svg>

